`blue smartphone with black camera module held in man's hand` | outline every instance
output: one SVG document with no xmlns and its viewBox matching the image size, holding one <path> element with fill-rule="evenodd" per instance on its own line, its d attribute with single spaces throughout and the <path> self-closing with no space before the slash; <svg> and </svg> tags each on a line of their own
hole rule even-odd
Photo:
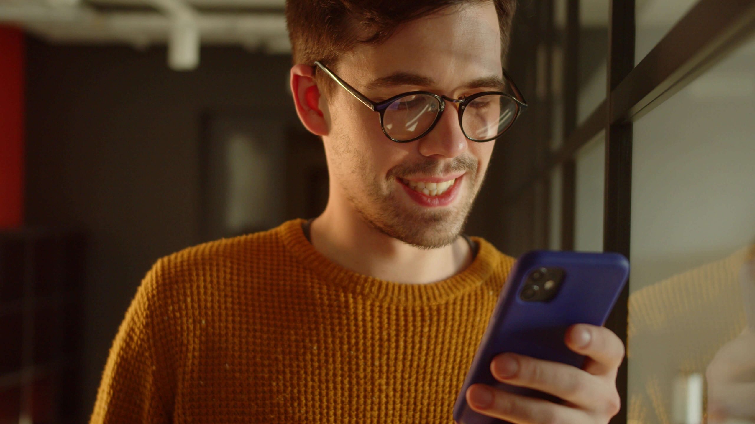
<svg viewBox="0 0 755 424">
<path fill-rule="evenodd" d="M 455 421 L 507 422 L 467 405 L 467 388 L 476 383 L 558 402 L 534 389 L 500 383 L 492 376 L 491 361 L 503 352 L 514 352 L 581 368 L 584 356 L 566 346 L 566 330 L 573 324 L 605 324 L 628 276 L 629 261 L 619 253 L 535 250 L 516 260 L 461 386 Z"/>
</svg>

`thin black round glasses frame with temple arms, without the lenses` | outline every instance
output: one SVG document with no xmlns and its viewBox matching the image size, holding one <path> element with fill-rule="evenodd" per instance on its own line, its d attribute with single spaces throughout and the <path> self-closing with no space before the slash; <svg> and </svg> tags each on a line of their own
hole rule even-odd
<svg viewBox="0 0 755 424">
<path fill-rule="evenodd" d="M 356 90 L 356 88 L 353 88 L 352 86 L 350 86 L 346 81 L 341 79 L 338 75 L 335 75 L 333 71 L 328 69 L 327 66 L 323 65 L 319 61 L 315 61 L 315 65 L 319 66 L 319 68 L 322 69 L 322 72 L 325 72 L 326 74 L 328 74 L 328 76 L 333 78 L 334 81 L 338 83 L 338 85 L 341 85 L 341 87 L 345 88 L 346 91 L 348 91 L 350 94 L 356 97 L 357 100 L 364 103 L 365 106 L 370 108 L 373 112 L 378 112 L 380 114 L 380 127 L 383 130 L 383 134 L 385 134 L 385 137 L 388 137 L 390 140 L 393 140 L 396 143 L 409 143 L 411 141 L 421 139 L 422 137 L 430 133 L 430 131 L 433 131 L 433 128 L 435 128 L 436 124 L 438 124 L 438 121 L 440 121 L 440 118 L 443 115 L 443 111 L 445 110 L 445 100 L 448 100 L 451 103 L 458 104 L 459 128 L 461 128 L 461 132 L 464 134 L 464 137 L 467 137 L 467 139 L 476 141 L 478 143 L 495 140 L 498 137 L 501 137 L 502 134 L 504 134 L 506 131 L 509 130 L 509 128 L 511 128 L 514 121 L 516 121 L 516 119 L 519 118 L 519 115 L 527 109 L 527 101 L 522 96 L 522 92 L 519 91 L 519 88 L 516 88 L 516 84 L 514 84 L 513 79 L 506 73 L 506 69 L 503 69 L 504 78 L 506 78 L 506 80 L 510 83 L 511 91 L 513 91 L 514 96 L 516 97 L 511 96 L 510 94 L 504 93 L 502 91 L 482 91 L 481 93 L 472 94 L 469 97 L 462 96 L 458 99 L 452 99 L 451 97 L 447 97 L 445 95 L 439 96 L 438 94 L 430 93 L 430 91 L 408 91 L 406 93 L 396 94 L 396 96 L 393 96 L 390 99 L 375 103 L 372 100 L 369 100 L 364 94 L 359 93 L 359 91 Z M 396 140 L 395 138 L 390 137 L 390 135 L 388 135 L 383 125 L 383 117 L 385 115 L 385 111 L 386 109 L 388 109 L 388 106 L 390 106 L 391 103 L 395 102 L 401 97 L 411 96 L 414 94 L 425 94 L 425 95 L 430 95 L 432 97 L 435 97 L 435 99 L 438 101 L 438 104 L 439 104 L 438 114 L 435 116 L 435 120 L 433 121 L 433 124 L 431 124 L 430 127 L 427 128 L 427 130 L 425 130 L 422 134 L 418 135 L 417 137 L 412 138 L 411 140 Z M 467 131 L 464 131 L 464 125 L 461 124 L 461 118 L 464 116 L 464 109 L 466 109 L 467 105 L 472 100 L 475 100 L 478 97 L 487 96 L 489 94 L 498 94 L 504 97 L 509 97 L 511 100 L 514 101 L 514 105 L 516 106 L 516 112 L 515 112 L 514 118 L 511 120 L 508 126 L 504 128 L 504 131 L 501 131 L 501 134 L 498 134 L 495 137 L 491 137 L 485 140 L 476 140 L 476 139 L 473 139 L 472 137 L 469 137 L 467 135 Z"/>
</svg>

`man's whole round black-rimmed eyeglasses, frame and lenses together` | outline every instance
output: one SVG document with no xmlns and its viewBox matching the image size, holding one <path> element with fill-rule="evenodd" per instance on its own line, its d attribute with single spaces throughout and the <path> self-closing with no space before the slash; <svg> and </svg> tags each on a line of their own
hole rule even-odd
<svg viewBox="0 0 755 424">
<path fill-rule="evenodd" d="M 504 77 L 516 97 L 501 91 L 482 91 L 469 97 L 452 99 L 429 91 L 410 91 L 375 103 L 335 75 L 327 66 L 319 62 L 315 62 L 315 65 L 365 106 L 378 112 L 383 134 L 397 143 L 417 140 L 432 131 L 443 115 L 446 100 L 458 105 L 459 126 L 464 137 L 478 142 L 495 140 L 504 134 L 519 114 L 527 109 L 527 102 L 507 75 L 506 69 Z"/>
</svg>

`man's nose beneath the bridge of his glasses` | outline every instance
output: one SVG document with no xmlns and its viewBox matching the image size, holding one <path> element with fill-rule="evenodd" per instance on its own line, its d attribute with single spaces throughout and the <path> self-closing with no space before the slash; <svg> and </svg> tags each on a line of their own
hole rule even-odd
<svg viewBox="0 0 755 424">
<path fill-rule="evenodd" d="M 459 126 L 458 106 L 445 101 L 445 111 L 430 133 L 419 141 L 418 149 L 423 156 L 433 155 L 455 158 L 467 151 L 467 137 Z"/>
</svg>

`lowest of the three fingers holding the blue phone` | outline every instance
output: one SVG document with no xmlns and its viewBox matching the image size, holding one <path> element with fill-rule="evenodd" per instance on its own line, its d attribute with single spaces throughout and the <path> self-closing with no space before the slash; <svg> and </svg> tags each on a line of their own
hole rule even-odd
<svg viewBox="0 0 755 424">
<path fill-rule="evenodd" d="M 467 404 L 476 412 L 513 424 L 541 424 L 561 422 L 584 424 L 590 416 L 582 410 L 554 404 L 538 398 L 515 395 L 484 384 L 474 384 L 467 389 Z"/>
</svg>

